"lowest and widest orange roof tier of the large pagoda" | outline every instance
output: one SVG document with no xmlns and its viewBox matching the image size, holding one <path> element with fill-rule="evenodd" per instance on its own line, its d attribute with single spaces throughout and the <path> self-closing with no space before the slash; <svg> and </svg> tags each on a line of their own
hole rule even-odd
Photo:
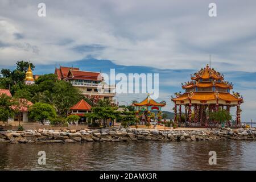
<svg viewBox="0 0 256 182">
<path fill-rule="evenodd" d="M 189 97 L 189 93 L 181 94 L 179 97 L 172 99 L 172 101 L 183 101 L 186 99 L 199 100 L 199 101 L 210 101 L 216 100 L 217 96 L 214 92 L 195 92 Z M 218 99 L 224 101 L 242 101 L 242 98 L 236 98 L 230 93 L 218 93 Z"/>
</svg>

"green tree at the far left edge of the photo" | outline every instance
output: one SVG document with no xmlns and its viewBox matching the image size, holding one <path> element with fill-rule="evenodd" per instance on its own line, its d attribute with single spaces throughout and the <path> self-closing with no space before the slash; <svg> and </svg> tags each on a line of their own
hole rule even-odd
<svg viewBox="0 0 256 182">
<path fill-rule="evenodd" d="M 13 118 L 15 111 L 13 110 L 13 105 L 15 102 L 12 100 L 10 96 L 6 94 L 0 95 L 0 120 L 6 122 L 8 125 L 8 119 Z"/>
</svg>

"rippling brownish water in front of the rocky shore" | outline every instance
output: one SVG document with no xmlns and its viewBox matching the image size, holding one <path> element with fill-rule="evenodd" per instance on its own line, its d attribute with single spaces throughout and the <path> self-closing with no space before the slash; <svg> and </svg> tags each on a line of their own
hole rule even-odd
<svg viewBox="0 0 256 182">
<path fill-rule="evenodd" d="M 46 151 L 46 165 L 38 151 Z M 208 163 L 217 152 L 217 165 Z M 255 141 L 0 143 L 0 169 L 255 170 Z"/>
</svg>

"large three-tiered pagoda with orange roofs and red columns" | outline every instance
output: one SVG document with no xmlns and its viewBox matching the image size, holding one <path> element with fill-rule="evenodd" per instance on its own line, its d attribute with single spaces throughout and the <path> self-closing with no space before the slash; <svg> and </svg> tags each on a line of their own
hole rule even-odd
<svg viewBox="0 0 256 182">
<path fill-rule="evenodd" d="M 201 126 L 208 126 L 214 121 L 210 121 L 209 114 L 218 111 L 219 108 L 225 109 L 228 113 L 230 107 L 237 107 L 236 125 L 241 125 L 241 109 L 243 98 L 240 93 L 233 92 L 232 82 L 224 81 L 224 75 L 210 68 L 208 65 L 199 72 L 191 75 L 191 81 L 182 84 L 184 93 L 175 93 L 171 101 L 174 102 L 174 120 L 177 123 L 177 107 L 179 107 L 179 122 L 181 122 L 182 109 L 185 109 L 186 121 L 198 123 Z M 193 121 L 192 121 L 193 109 Z M 230 121 L 227 121 L 228 123 Z"/>
</svg>

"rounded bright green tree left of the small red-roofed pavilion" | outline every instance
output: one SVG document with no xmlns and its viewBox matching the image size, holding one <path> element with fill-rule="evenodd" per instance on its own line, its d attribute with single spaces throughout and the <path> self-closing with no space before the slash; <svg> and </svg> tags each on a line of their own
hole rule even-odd
<svg viewBox="0 0 256 182">
<path fill-rule="evenodd" d="M 44 120 L 56 118 L 57 114 L 52 105 L 37 102 L 29 110 L 28 117 L 43 123 Z"/>
</svg>

